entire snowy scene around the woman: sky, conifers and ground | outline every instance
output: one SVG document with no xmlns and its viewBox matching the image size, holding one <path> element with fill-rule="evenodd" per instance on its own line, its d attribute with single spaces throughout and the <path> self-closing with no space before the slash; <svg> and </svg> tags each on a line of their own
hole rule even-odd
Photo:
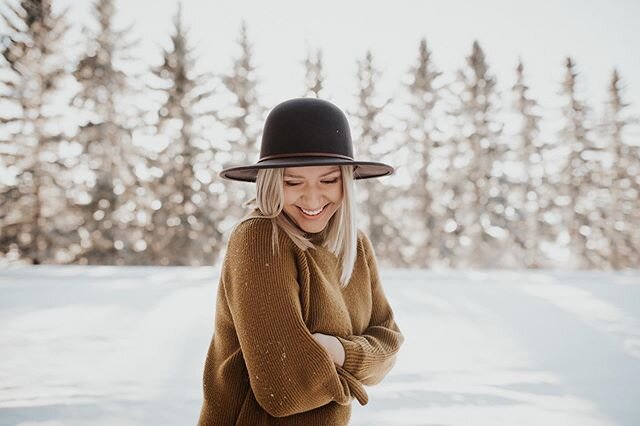
<svg viewBox="0 0 640 426">
<path fill-rule="evenodd" d="M 640 3 L 0 2 L 0 424 L 197 422 L 266 114 L 349 116 L 398 362 L 354 425 L 640 419 Z M 473 419 L 473 420 L 470 420 Z"/>
</svg>

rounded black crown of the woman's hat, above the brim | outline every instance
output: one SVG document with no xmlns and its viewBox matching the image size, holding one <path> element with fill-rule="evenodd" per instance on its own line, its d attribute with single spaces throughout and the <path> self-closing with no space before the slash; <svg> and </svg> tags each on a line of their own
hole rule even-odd
<svg viewBox="0 0 640 426">
<path fill-rule="evenodd" d="M 302 155 L 353 159 L 349 122 L 340 108 L 322 99 L 296 98 L 271 110 L 260 161 Z"/>
</svg>

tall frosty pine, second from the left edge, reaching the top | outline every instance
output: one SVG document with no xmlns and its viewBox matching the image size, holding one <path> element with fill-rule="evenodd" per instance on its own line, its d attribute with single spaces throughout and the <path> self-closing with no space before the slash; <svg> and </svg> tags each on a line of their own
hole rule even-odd
<svg viewBox="0 0 640 426">
<path fill-rule="evenodd" d="M 96 1 L 95 22 L 84 28 L 86 48 L 73 70 L 79 84 L 72 100 L 79 120 L 75 140 L 82 151 L 75 191 L 83 217 L 80 263 L 135 264 L 146 249 L 148 215 L 139 204 L 146 190 L 135 171 L 144 158 L 131 137 L 138 116 L 127 68 L 133 44 L 128 30 L 115 28 L 115 13 L 113 0 Z"/>
</svg>

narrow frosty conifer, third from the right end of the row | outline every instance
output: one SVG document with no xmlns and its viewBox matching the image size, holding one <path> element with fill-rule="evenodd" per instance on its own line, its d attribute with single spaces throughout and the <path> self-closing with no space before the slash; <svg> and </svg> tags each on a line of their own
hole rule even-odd
<svg viewBox="0 0 640 426">
<path fill-rule="evenodd" d="M 514 109 L 519 122 L 514 138 L 513 168 L 518 179 L 510 183 L 509 239 L 513 250 L 527 268 L 545 266 L 543 244 L 555 239 L 555 229 L 545 220 L 552 204 L 552 188 L 547 179 L 544 143 L 540 140 L 540 107 L 529 96 L 522 61 L 516 67 L 516 82 L 512 87 Z M 548 215 L 547 215 L 548 216 Z"/>
</svg>

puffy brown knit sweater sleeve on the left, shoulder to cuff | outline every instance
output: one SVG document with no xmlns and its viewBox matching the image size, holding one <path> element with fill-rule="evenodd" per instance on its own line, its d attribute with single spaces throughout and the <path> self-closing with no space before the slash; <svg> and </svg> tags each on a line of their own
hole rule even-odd
<svg viewBox="0 0 640 426">
<path fill-rule="evenodd" d="M 251 389 L 260 406 L 285 417 L 326 405 L 366 404 L 366 391 L 340 372 L 307 329 L 299 299 L 293 244 L 279 233 L 272 250 L 266 219 L 241 223 L 232 233 L 223 285 Z"/>
</svg>

